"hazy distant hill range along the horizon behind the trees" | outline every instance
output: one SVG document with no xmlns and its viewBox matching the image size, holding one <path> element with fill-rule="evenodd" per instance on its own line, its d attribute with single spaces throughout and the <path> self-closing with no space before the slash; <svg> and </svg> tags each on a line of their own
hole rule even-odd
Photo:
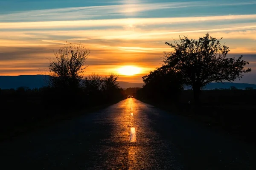
<svg viewBox="0 0 256 170">
<path fill-rule="evenodd" d="M 20 86 L 25 86 L 29 88 L 41 88 L 46 86 L 46 80 L 49 79 L 48 75 L 20 75 L 20 76 L 0 76 L 0 88 L 2 89 L 10 89 L 10 88 L 18 88 Z M 119 81 L 119 86 L 121 88 L 135 88 L 139 87 L 142 88 L 144 83 L 131 83 L 131 82 L 122 82 Z M 254 84 L 247 84 L 247 83 L 231 83 L 225 82 L 216 83 L 212 82 L 206 86 L 205 90 L 215 89 L 215 88 L 230 88 L 230 86 L 235 86 L 238 89 L 245 89 L 247 87 L 252 87 L 256 89 L 256 85 Z M 185 86 L 187 89 L 187 86 Z M 191 89 L 191 87 L 189 87 Z"/>
</svg>

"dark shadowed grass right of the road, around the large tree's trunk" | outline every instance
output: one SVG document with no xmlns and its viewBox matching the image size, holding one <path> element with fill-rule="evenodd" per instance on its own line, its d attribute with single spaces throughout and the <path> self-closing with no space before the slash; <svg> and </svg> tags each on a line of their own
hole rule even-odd
<svg viewBox="0 0 256 170">
<path fill-rule="evenodd" d="M 256 144 L 254 139 L 256 98 L 254 96 L 256 96 L 255 90 L 202 91 L 201 105 L 198 108 L 195 108 L 193 103 L 188 103 L 192 99 L 192 91 L 183 91 L 176 103 L 168 100 L 161 102 L 140 100 L 163 110 L 189 117 L 207 128 L 218 130 L 236 139 Z"/>
</svg>

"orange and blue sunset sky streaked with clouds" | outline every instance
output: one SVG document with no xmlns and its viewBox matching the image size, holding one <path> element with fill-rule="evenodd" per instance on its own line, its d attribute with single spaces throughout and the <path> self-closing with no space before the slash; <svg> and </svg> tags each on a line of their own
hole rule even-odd
<svg viewBox="0 0 256 170">
<path fill-rule="evenodd" d="M 255 9 L 255 0 L 0 0 L 0 75 L 47 74 L 54 51 L 81 42 L 91 51 L 85 76 L 141 83 L 172 51 L 165 42 L 209 32 L 223 37 L 227 57 L 250 62 L 236 82 L 256 84 Z M 122 75 L 128 65 L 135 75 Z"/>
</svg>

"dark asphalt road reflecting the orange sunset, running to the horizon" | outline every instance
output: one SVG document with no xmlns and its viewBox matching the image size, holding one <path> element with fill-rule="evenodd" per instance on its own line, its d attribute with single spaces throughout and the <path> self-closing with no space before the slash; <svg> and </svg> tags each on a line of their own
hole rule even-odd
<svg viewBox="0 0 256 170">
<path fill-rule="evenodd" d="M 254 145 L 134 98 L 1 142 L 0 153 L 1 170 L 256 169 Z"/>
</svg>

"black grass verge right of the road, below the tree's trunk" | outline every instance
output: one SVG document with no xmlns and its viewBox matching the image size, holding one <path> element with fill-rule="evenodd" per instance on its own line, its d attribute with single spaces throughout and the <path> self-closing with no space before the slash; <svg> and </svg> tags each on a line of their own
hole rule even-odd
<svg viewBox="0 0 256 170">
<path fill-rule="evenodd" d="M 255 105 L 248 104 L 223 104 L 202 103 L 200 108 L 195 108 L 188 103 L 157 103 L 150 100 L 139 99 L 142 102 L 154 105 L 168 112 L 188 117 L 205 127 L 232 136 L 244 142 L 256 144 L 254 134 L 253 110 Z"/>
</svg>

